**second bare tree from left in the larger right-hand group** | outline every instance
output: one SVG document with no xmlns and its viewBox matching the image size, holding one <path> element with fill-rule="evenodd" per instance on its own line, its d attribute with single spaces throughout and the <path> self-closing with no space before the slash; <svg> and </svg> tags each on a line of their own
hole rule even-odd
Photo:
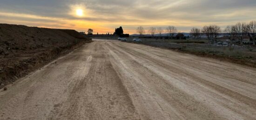
<svg viewBox="0 0 256 120">
<path fill-rule="evenodd" d="M 202 27 L 202 33 L 206 34 L 209 43 L 212 41 L 213 43 L 216 42 L 216 38 L 219 36 L 221 32 L 221 27 L 217 25 L 209 25 Z"/>
</svg>

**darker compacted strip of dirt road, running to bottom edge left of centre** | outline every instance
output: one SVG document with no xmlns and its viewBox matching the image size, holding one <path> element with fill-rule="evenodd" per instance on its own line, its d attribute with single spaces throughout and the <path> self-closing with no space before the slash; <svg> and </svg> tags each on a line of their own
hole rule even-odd
<svg viewBox="0 0 256 120">
<path fill-rule="evenodd" d="M 127 91 L 122 86 L 101 44 L 95 44 L 90 53 L 91 65 L 88 74 L 77 82 L 69 99 L 60 103 L 51 115 L 54 119 L 139 119 Z M 56 117 L 59 116 L 59 117 Z"/>
</svg>

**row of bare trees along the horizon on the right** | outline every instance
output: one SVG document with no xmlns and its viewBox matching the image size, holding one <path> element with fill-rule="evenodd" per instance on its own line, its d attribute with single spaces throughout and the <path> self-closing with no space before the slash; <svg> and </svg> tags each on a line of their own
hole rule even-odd
<svg viewBox="0 0 256 120">
<path fill-rule="evenodd" d="M 145 29 L 142 26 L 137 27 L 136 29 L 137 33 L 139 33 L 141 36 L 145 34 Z M 160 36 L 164 30 L 162 27 L 150 27 L 148 29 L 148 33 L 152 36 L 155 35 L 155 33 L 158 33 Z M 171 38 L 174 38 L 175 34 L 177 33 L 177 28 L 175 26 L 168 26 L 166 28 L 166 33 L 168 33 Z M 234 39 L 239 39 L 240 43 L 242 44 L 242 41 L 245 37 L 249 37 L 250 40 L 253 40 L 253 44 L 255 44 L 256 40 L 256 21 L 251 21 L 249 23 L 241 23 L 238 22 L 235 25 L 228 25 L 225 27 L 225 29 L 222 31 L 221 27 L 218 25 L 205 25 L 202 28 L 196 28 L 193 27 L 190 30 L 190 35 L 194 38 L 201 38 L 202 35 L 205 35 L 209 43 L 216 43 L 216 38 L 220 35 L 220 33 L 227 33 L 228 37 L 232 43 Z"/>
</svg>

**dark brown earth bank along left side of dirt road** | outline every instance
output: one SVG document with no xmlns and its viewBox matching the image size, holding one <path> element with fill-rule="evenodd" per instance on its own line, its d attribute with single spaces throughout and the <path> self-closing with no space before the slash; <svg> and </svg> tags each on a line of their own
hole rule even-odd
<svg viewBox="0 0 256 120">
<path fill-rule="evenodd" d="M 90 41 L 74 30 L 0 24 L 0 88 Z"/>
</svg>

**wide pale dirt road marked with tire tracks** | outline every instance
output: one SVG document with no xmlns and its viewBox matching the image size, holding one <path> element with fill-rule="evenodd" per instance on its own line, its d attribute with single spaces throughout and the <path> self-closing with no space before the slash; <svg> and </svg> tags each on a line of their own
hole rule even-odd
<svg viewBox="0 0 256 120">
<path fill-rule="evenodd" d="M 256 119 L 256 69 L 97 40 L 0 91 L 2 119 Z"/>
</svg>

